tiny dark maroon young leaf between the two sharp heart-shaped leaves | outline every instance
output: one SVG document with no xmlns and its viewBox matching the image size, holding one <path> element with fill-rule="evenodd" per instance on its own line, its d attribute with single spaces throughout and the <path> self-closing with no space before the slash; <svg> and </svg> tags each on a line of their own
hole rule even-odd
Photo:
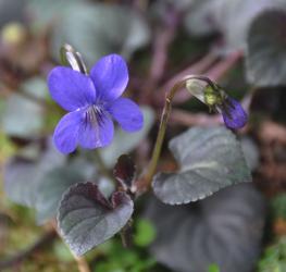
<svg viewBox="0 0 286 272">
<path fill-rule="evenodd" d="M 113 174 L 123 188 L 132 187 L 135 173 L 136 166 L 132 158 L 127 154 L 122 154 L 114 166 Z"/>
</svg>

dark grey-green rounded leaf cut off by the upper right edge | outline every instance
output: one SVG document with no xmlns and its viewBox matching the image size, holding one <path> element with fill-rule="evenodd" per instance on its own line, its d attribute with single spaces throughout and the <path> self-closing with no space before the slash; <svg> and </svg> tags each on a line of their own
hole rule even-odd
<svg viewBox="0 0 286 272">
<path fill-rule="evenodd" d="M 269 10 L 252 23 L 248 34 L 247 77 L 256 86 L 286 84 L 285 10 Z"/>
</svg>

